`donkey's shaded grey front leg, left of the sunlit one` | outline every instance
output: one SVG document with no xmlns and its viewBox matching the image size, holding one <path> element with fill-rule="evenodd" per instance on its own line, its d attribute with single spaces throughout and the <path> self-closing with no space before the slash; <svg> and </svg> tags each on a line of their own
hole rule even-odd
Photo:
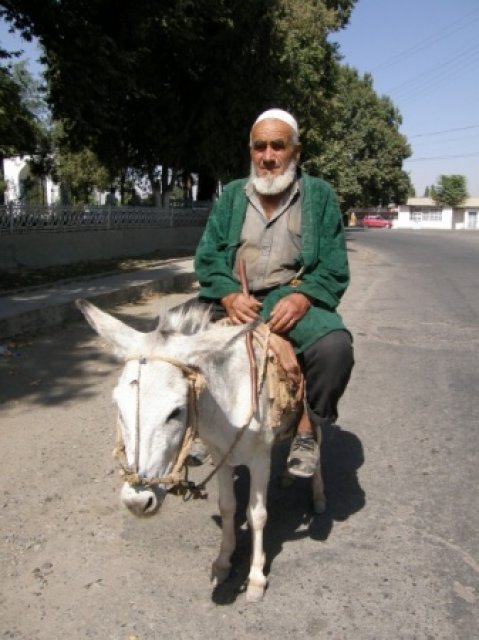
<svg viewBox="0 0 479 640">
<path fill-rule="evenodd" d="M 236 497 L 233 485 L 233 467 L 223 465 L 218 469 L 219 508 L 221 514 L 221 546 L 211 568 L 211 580 L 215 585 L 226 580 L 231 569 L 231 556 L 236 546 L 234 516 Z"/>
</svg>

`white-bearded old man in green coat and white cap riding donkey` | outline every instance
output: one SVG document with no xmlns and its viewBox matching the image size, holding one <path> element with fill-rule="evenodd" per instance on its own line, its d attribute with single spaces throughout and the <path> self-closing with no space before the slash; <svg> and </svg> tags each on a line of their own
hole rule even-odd
<svg viewBox="0 0 479 640">
<path fill-rule="evenodd" d="M 200 299 L 234 323 L 262 317 L 294 346 L 305 378 L 305 411 L 288 471 L 309 477 L 318 430 L 334 423 L 353 367 L 352 339 L 336 308 L 349 283 L 336 195 L 299 169 L 296 119 L 269 109 L 250 133 L 251 173 L 228 184 L 209 216 L 195 269 Z M 239 276 L 245 265 L 248 293 Z"/>
</svg>

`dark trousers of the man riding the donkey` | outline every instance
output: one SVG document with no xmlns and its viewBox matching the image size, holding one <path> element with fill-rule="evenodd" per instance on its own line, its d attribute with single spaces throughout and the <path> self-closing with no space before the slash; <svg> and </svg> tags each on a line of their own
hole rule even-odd
<svg viewBox="0 0 479 640">
<path fill-rule="evenodd" d="M 261 299 L 261 296 L 255 296 Z M 194 298 L 185 304 L 189 306 L 198 303 L 211 307 L 213 320 L 226 317 L 223 307 L 211 300 Z M 344 330 L 327 333 L 299 354 L 298 361 L 306 381 L 306 400 L 311 422 L 316 427 L 333 424 L 338 417 L 339 399 L 346 389 L 354 366 L 350 333 Z"/>
</svg>

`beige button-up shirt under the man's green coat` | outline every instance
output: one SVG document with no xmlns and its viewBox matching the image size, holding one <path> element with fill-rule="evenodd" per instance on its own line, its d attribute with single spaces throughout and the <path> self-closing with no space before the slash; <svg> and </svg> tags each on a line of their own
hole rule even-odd
<svg viewBox="0 0 479 640">
<path fill-rule="evenodd" d="M 236 253 L 235 275 L 240 259 L 245 262 L 251 292 L 288 283 L 299 270 L 301 250 L 301 201 L 296 180 L 285 191 L 268 220 L 251 182 L 245 187 L 248 207 Z"/>
</svg>

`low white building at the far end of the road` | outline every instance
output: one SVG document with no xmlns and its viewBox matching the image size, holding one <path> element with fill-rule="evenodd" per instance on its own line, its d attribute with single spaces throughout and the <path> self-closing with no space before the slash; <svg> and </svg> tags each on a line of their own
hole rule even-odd
<svg viewBox="0 0 479 640">
<path fill-rule="evenodd" d="M 479 198 L 458 207 L 438 206 L 432 198 L 409 198 L 398 207 L 395 229 L 479 229 Z"/>
</svg>

